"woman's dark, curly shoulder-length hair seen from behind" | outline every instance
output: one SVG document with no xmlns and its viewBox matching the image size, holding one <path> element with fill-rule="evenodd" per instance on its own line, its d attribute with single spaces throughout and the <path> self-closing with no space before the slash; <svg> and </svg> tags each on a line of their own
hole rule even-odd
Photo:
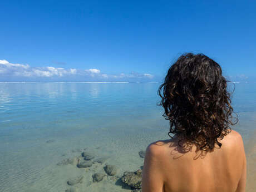
<svg viewBox="0 0 256 192">
<path fill-rule="evenodd" d="M 193 53 L 181 55 L 169 68 L 164 83 L 159 87 L 160 106 L 170 121 L 168 135 L 189 141 L 200 150 L 213 151 L 221 147 L 225 135 L 231 131 L 232 93 L 218 63 L 211 58 Z M 234 90 L 233 90 L 234 91 Z M 236 114 L 237 115 L 237 114 Z M 180 145 L 180 144 L 179 144 Z"/>
</svg>

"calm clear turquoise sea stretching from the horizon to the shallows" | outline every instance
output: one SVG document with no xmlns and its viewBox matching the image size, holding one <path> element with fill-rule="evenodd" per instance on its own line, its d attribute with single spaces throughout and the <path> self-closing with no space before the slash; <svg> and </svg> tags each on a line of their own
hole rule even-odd
<svg viewBox="0 0 256 192">
<path fill-rule="evenodd" d="M 120 181 L 124 171 L 136 171 L 151 142 L 168 139 L 169 123 L 157 106 L 159 83 L 34 82 L 0 83 L 0 191 L 58 192 L 67 181 L 80 191 L 131 191 Z M 255 190 L 256 83 L 230 83 L 232 106 L 248 161 L 247 191 Z M 57 165 L 89 151 L 106 157 L 115 176 L 92 182 L 105 173 L 104 164 L 90 168 Z M 254 189 L 254 190 L 253 190 Z"/>
</svg>

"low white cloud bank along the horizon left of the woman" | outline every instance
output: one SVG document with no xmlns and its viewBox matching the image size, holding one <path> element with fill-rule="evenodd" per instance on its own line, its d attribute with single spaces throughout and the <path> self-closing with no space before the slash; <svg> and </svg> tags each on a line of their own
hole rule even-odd
<svg viewBox="0 0 256 192">
<path fill-rule="evenodd" d="M 62 67 L 31 67 L 0 60 L 0 81 L 154 81 L 150 73 L 107 74 L 97 68 L 86 70 Z"/>
</svg>

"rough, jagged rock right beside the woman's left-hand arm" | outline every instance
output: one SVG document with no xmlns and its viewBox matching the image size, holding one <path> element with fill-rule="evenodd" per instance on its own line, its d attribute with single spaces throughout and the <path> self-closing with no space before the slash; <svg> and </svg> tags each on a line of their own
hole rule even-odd
<svg viewBox="0 0 256 192">
<path fill-rule="evenodd" d="M 142 170 L 139 169 L 135 172 L 125 171 L 121 180 L 132 189 L 141 189 Z"/>
</svg>

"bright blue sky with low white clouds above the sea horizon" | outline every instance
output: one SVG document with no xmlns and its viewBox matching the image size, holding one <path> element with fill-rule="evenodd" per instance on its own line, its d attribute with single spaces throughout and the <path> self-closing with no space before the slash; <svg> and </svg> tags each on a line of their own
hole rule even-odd
<svg viewBox="0 0 256 192">
<path fill-rule="evenodd" d="M 184 52 L 256 81 L 256 1 L 1 1 L 0 81 L 161 81 Z"/>
</svg>

